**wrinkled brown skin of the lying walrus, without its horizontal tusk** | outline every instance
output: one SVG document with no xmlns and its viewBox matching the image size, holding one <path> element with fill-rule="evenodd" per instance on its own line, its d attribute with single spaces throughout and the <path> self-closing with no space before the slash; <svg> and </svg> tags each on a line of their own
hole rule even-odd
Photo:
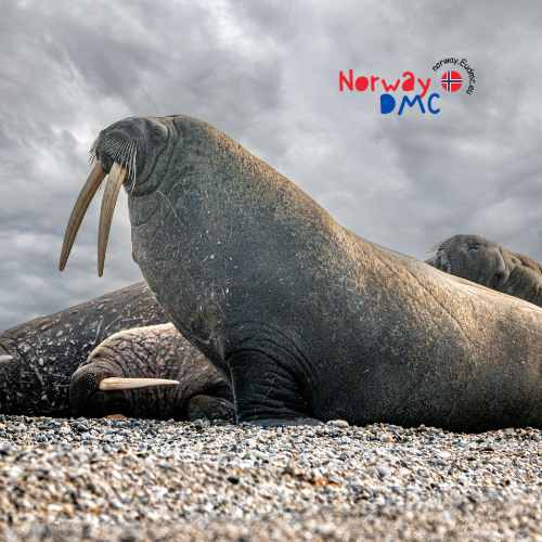
<svg viewBox="0 0 542 542">
<path fill-rule="evenodd" d="M 178 380 L 178 386 L 101 391 L 107 377 Z M 136 327 L 101 343 L 75 372 L 72 411 L 83 416 L 109 413 L 133 417 L 232 420 L 231 391 L 217 369 L 171 323 Z"/>
</svg>

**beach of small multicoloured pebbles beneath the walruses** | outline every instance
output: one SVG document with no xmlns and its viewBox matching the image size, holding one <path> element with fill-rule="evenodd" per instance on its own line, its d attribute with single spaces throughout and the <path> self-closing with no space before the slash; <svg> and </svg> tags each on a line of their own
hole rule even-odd
<svg viewBox="0 0 542 542">
<path fill-rule="evenodd" d="M 0 415 L 0 537 L 542 540 L 542 431 Z"/>
</svg>

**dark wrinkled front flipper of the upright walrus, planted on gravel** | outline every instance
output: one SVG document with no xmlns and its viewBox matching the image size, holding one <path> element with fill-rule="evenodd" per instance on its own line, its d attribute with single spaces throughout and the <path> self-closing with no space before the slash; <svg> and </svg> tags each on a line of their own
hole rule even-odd
<svg viewBox="0 0 542 542">
<path fill-rule="evenodd" d="M 286 354 L 286 356 L 284 356 Z M 262 427 L 314 425 L 299 364 L 279 347 L 243 348 L 228 357 L 237 423 Z"/>
</svg>

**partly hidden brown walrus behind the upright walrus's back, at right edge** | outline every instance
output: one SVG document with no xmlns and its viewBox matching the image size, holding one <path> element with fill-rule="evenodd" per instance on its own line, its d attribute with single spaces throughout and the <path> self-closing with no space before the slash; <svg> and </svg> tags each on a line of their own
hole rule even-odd
<svg viewBox="0 0 542 542">
<path fill-rule="evenodd" d="M 427 263 L 542 307 L 542 266 L 479 235 L 454 235 Z"/>
</svg>

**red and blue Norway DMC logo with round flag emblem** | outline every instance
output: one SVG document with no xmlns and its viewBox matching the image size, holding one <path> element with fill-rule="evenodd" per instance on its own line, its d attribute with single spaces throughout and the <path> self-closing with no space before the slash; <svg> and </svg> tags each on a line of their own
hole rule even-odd
<svg viewBox="0 0 542 542">
<path fill-rule="evenodd" d="M 442 67 L 444 69 L 442 69 Z M 447 69 L 448 68 L 448 69 Z M 414 72 L 402 72 L 399 77 L 358 75 L 353 69 L 339 70 L 339 92 L 377 93 L 377 106 L 382 115 L 403 115 L 418 112 L 422 115 L 438 115 L 441 111 L 441 89 L 444 94 L 470 95 L 475 90 L 475 70 L 466 59 L 442 59 L 433 66 L 438 72 L 435 77 L 425 77 Z M 468 80 L 468 82 L 466 82 Z M 435 89 L 435 91 L 433 91 Z M 437 92 L 438 90 L 438 92 Z"/>
</svg>

